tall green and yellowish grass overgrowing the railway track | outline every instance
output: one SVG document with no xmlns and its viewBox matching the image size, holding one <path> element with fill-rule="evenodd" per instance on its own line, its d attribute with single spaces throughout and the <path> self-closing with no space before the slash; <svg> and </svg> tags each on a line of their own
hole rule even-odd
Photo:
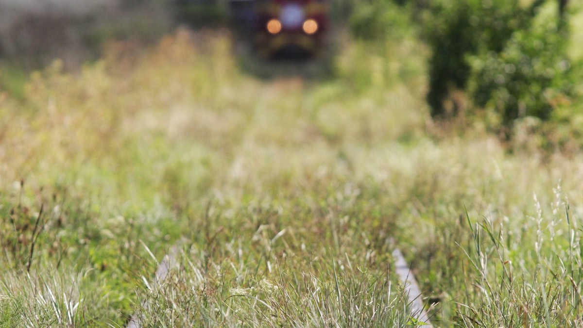
<svg viewBox="0 0 583 328">
<path fill-rule="evenodd" d="M 200 33 L 0 97 L 0 325 L 414 326 L 391 239 L 434 325 L 583 325 L 578 151 L 428 125 L 409 37 L 266 81 Z"/>
</svg>

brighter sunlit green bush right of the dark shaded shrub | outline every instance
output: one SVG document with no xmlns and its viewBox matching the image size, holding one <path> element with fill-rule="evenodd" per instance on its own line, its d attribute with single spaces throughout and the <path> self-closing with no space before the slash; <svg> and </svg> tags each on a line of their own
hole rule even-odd
<svg viewBox="0 0 583 328">
<path fill-rule="evenodd" d="M 565 34 L 556 19 L 546 18 L 515 31 L 502 51 L 473 57 L 475 104 L 496 110 L 504 125 L 525 116 L 550 119 L 573 94 Z"/>
</svg>

